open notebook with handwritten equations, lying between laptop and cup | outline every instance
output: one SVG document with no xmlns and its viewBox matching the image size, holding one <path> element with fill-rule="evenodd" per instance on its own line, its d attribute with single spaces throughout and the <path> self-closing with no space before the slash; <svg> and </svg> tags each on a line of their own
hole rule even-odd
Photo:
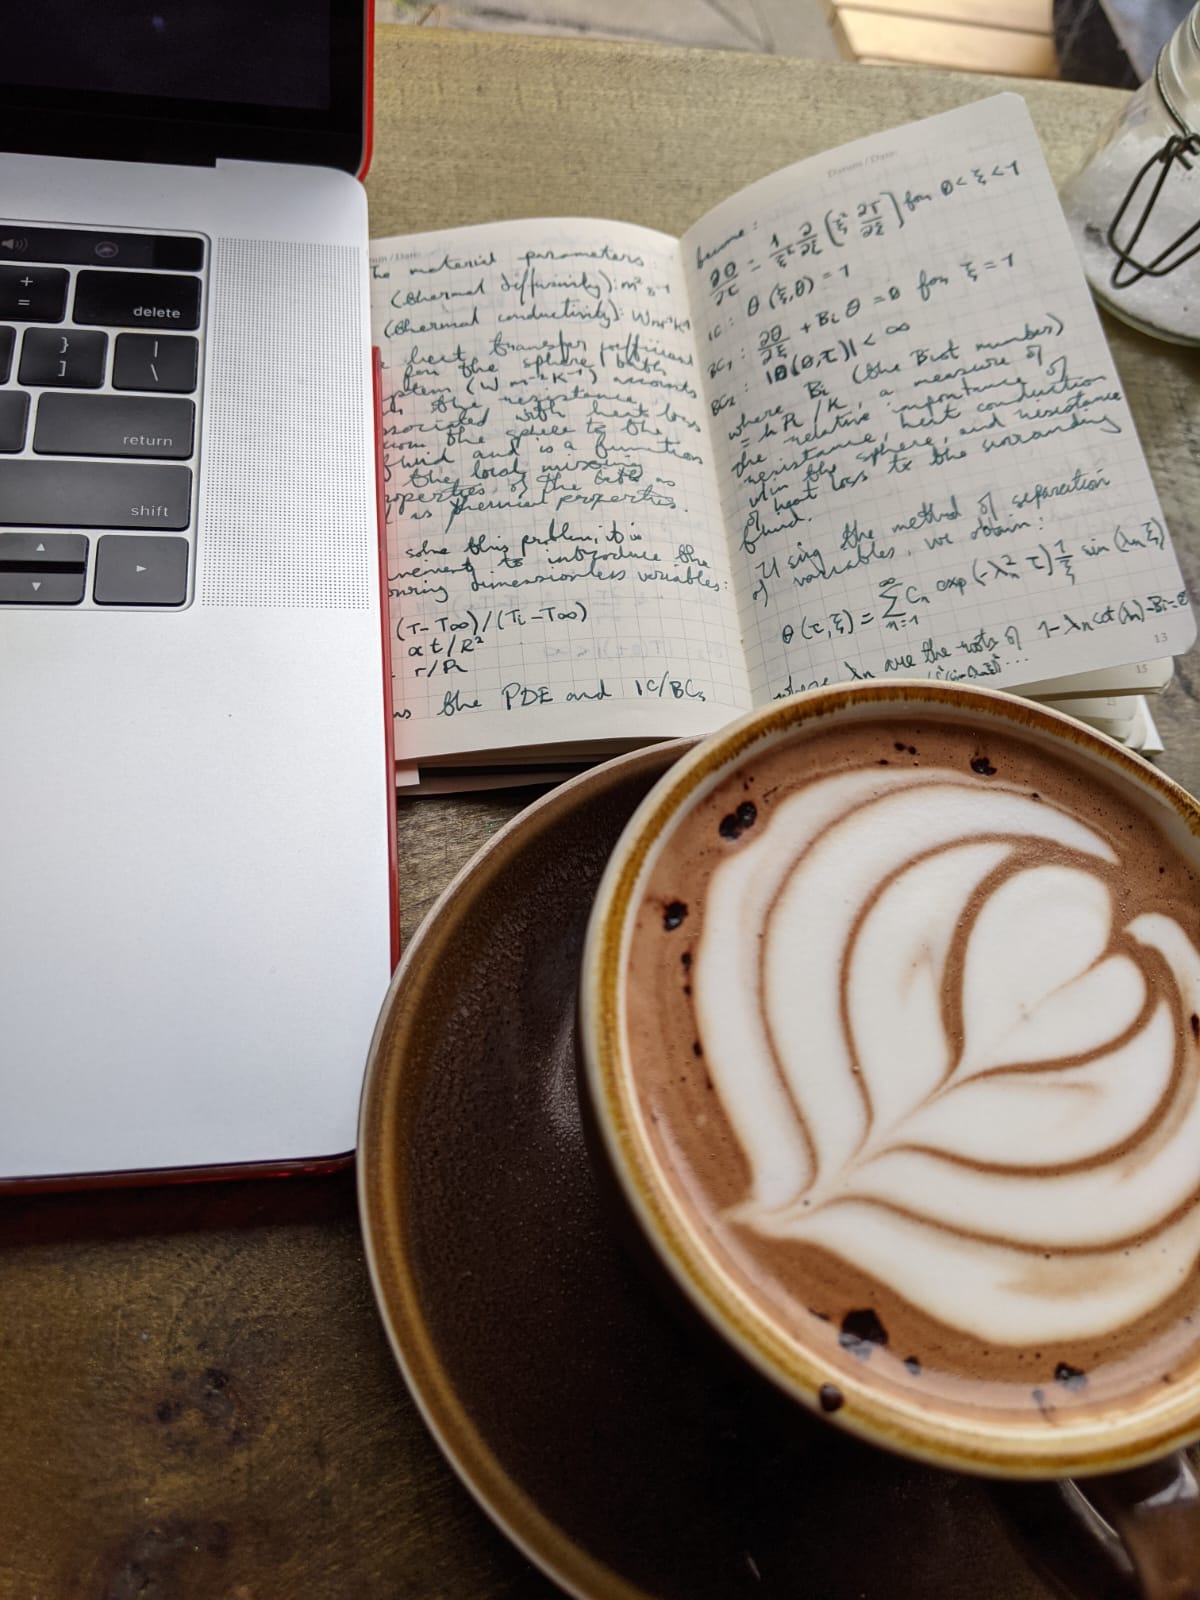
<svg viewBox="0 0 1200 1600">
<path fill-rule="evenodd" d="M 675 240 L 376 240 L 400 768 L 597 757 L 856 677 L 1152 742 L 1190 605 L 1024 101 Z"/>
</svg>

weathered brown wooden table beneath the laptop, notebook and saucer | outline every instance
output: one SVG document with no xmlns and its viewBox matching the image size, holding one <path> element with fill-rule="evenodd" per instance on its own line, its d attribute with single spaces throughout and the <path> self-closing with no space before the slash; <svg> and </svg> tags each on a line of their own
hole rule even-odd
<svg viewBox="0 0 1200 1600">
<path fill-rule="evenodd" d="M 1003 86 L 384 29 L 373 232 L 555 213 L 682 230 L 786 162 Z M 1056 176 L 1122 102 L 1019 88 Z M 1195 589 L 1200 358 L 1109 331 Z M 1192 789 L 1198 661 L 1160 715 L 1163 766 Z M 406 934 L 526 800 L 402 802 Z M 0 1600 L 557 1592 L 475 1509 L 395 1373 L 349 1174 L 3 1202 L 0 1451 Z"/>
</svg>

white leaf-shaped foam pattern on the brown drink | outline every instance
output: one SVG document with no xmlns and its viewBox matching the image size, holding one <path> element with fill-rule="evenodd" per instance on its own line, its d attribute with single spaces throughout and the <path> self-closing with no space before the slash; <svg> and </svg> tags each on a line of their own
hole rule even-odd
<svg viewBox="0 0 1200 1600">
<path fill-rule="evenodd" d="M 1200 1251 L 1200 955 L 1120 843 L 947 768 L 840 771 L 712 872 L 698 1048 L 725 1218 L 982 1341 L 1110 1334 Z"/>
</svg>

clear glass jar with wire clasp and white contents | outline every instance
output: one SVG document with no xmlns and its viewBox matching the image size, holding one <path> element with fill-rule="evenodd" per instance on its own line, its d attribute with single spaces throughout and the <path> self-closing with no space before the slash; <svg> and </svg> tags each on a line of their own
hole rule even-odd
<svg viewBox="0 0 1200 1600">
<path fill-rule="evenodd" d="M 1107 310 L 1200 344 L 1200 3 L 1062 190 L 1062 210 Z"/>
</svg>

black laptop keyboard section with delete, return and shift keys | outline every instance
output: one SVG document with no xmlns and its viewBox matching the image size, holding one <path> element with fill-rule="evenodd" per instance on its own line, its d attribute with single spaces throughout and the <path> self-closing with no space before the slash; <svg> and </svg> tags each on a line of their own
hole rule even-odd
<svg viewBox="0 0 1200 1600">
<path fill-rule="evenodd" d="M 182 606 L 205 242 L 0 222 L 0 605 Z"/>
</svg>

